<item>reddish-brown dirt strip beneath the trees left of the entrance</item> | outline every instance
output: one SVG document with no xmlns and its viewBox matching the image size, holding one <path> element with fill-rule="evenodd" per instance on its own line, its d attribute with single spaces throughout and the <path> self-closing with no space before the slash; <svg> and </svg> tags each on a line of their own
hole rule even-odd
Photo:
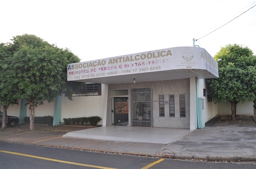
<svg viewBox="0 0 256 169">
<path fill-rule="evenodd" d="M 35 131 L 29 131 L 29 124 L 18 124 L 15 127 L 7 127 L 6 129 L 0 129 L 0 137 L 8 135 L 18 135 L 27 133 L 29 135 L 37 136 L 62 136 L 67 132 L 73 132 L 77 130 L 85 130 L 92 128 L 91 126 L 83 127 L 67 127 L 67 126 L 48 126 L 48 125 L 35 125 Z"/>
</svg>

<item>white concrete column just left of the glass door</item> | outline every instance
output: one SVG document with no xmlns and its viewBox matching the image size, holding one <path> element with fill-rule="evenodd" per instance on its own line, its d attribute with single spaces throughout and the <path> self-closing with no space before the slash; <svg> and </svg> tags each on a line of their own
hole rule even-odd
<svg viewBox="0 0 256 169">
<path fill-rule="evenodd" d="M 108 84 L 102 84 L 102 126 L 107 124 Z"/>
</svg>

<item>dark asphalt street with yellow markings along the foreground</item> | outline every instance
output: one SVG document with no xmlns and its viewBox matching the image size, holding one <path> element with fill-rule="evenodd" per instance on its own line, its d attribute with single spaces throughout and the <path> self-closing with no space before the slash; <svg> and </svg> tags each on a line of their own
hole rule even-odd
<svg viewBox="0 0 256 169">
<path fill-rule="evenodd" d="M 254 162 L 207 162 L 0 142 L 1 169 L 255 169 Z"/>
</svg>

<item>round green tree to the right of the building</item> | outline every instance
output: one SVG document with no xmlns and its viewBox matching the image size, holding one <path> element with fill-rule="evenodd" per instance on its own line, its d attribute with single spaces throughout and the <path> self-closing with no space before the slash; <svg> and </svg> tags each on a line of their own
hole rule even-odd
<svg viewBox="0 0 256 169">
<path fill-rule="evenodd" d="M 242 45 L 226 45 L 214 56 L 219 61 L 219 77 L 208 79 L 215 103 L 231 103 L 231 119 L 235 120 L 236 105 L 256 100 L 256 56 Z"/>
</svg>

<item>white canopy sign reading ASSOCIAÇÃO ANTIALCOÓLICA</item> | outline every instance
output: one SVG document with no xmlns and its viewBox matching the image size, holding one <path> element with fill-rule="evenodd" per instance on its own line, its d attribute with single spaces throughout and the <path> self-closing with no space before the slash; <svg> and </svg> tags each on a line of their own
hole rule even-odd
<svg viewBox="0 0 256 169">
<path fill-rule="evenodd" d="M 175 47 L 72 63 L 67 66 L 67 80 L 175 69 L 203 69 L 218 77 L 218 63 L 204 48 Z"/>
</svg>

